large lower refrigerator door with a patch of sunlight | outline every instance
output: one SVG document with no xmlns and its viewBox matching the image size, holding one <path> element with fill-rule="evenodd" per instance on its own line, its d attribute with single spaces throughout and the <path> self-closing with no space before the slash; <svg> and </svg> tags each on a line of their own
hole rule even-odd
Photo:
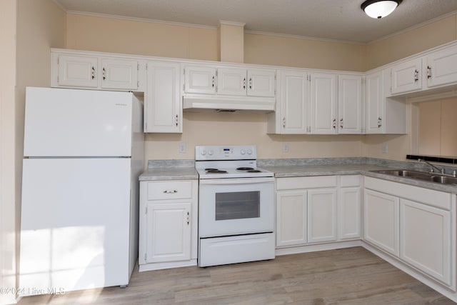
<svg viewBox="0 0 457 305">
<path fill-rule="evenodd" d="M 24 293 L 129 284 L 130 161 L 24 159 Z"/>
</svg>

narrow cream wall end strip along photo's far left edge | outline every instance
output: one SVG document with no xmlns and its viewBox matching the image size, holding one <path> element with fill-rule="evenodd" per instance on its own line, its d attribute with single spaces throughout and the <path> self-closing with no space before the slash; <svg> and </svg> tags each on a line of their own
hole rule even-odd
<svg viewBox="0 0 457 305">
<path fill-rule="evenodd" d="M 16 0 L 0 1 L 0 41 L 0 287 L 12 288 L 16 286 Z M 0 304 L 12 301 L 11 294 L 0 294 Z"/>
</svg>

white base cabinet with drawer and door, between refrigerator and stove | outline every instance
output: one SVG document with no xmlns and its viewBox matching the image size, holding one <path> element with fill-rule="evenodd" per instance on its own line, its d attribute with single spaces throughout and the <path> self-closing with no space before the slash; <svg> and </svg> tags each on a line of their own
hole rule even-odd
<svg viewBox="0 0 457 305">
<path fill-rule="evenodd" d="M 139 271 L 196 265 L 198 181 L 140 181 Z"/>
</svg>

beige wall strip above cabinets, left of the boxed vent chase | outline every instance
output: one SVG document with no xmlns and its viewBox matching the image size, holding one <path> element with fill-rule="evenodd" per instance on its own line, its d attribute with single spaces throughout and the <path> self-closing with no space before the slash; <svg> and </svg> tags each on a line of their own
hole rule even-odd
<svg viewBox="0 0 457 305">
<path fill-rule="evenodd" d="M 217 29 L 67 15 L 67 49 L 216 61 Z"/>
</svg>

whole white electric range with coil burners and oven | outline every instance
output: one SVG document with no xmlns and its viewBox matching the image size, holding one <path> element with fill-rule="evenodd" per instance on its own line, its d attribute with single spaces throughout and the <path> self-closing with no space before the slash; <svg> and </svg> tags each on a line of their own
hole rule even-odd
<svg viewBox="0 0 457 305">
<path fill-rule="evenodd" d="M 274 259 L 274 178 L 256 146 L 196 146 L 199 266 Z"/>
</svg>

